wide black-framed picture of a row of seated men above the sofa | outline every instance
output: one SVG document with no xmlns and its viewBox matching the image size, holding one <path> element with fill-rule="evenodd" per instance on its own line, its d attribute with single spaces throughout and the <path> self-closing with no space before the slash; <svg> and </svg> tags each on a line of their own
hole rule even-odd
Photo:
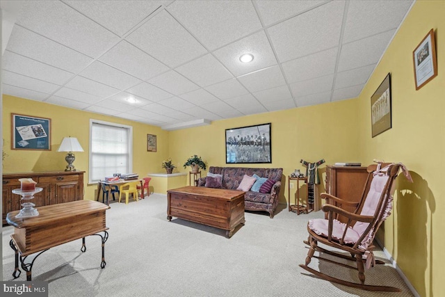
<svg viewBox="0 0 445 297">
<path fill-rule="evenodd" d="M 225 163 L 272 163 L 270 123 L 225 130 Z"/>
</svg>

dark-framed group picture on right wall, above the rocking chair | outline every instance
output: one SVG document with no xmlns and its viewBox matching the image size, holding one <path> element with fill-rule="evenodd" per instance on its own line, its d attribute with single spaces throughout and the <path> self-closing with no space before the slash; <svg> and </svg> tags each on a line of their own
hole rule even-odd
<svg viewBox="0 0 445 297">
<path fill-rule="evenodd" d="M 373 137 L 391 128 L 391 75 L 389 73 L 371 96 L 371 122 Z"/>
</svg>

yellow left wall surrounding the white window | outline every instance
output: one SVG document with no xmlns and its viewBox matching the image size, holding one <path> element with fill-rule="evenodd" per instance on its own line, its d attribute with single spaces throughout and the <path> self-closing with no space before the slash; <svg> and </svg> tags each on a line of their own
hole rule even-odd
<svg viewBox="0 0 445 297">
<path fill-rule="evenodd" d="M 3 160 L 3 173 L 63 171 L 65 166 L 67 166 L 65 161 L 66 152 L 57 152 L 58 147 L 64 137 L 76 137 L 85 152 L 76 152 L 74 166 L 77 170 L 86 171 L 84 198 L 88 200 L 95 199 L 95 190 L 97 189 L 96 184 L 87 185 L 91 118 L 133 127 L 133 172 L 138 172 L 140 177 L 147 176 L 147 173 L 163 172 L 161 164 L 168 157 L 168 131 L 164 131 L 159 127 L 8 95 L 3 95 L 2 112 L 3 150 L 8 155 Z M 10 113 L 50 118 L 51 151 L 11 150 Z M 155 134 L 157 136 L 157 152 L 147 152 L 147 134 Z M 154 191 L 156 192 L 156 189 Z"/>
</svg>

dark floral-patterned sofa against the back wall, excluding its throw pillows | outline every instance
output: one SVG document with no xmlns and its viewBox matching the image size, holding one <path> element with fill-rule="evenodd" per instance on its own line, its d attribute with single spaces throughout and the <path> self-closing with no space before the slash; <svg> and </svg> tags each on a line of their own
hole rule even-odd
<svg viewBox="0 0 445 297">
<path fill-rule="evenodd" d="M 221 188 L 236 190 L 243 180 L 244 175 L 266 177 L 273 179 L 275 184 L 270 193 L 260 193 L 247 191 L 244 195 L 245 209 L 250 211 L 267 211 L 270 218 L 277 208 L 280 197 L 281 178 L 283 168 L 237 168 L 237 167 L 215 167 L 210 166 L 209 172 L 222 175 Z M 206 184 L 206 177 L 201 177 L 196 181 L 197 186 Z"/>
</svg>

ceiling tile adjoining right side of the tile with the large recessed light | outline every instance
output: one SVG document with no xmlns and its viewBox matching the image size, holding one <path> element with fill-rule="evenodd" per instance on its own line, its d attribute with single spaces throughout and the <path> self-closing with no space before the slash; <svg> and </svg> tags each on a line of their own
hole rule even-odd
<svg viewBox="0 0 445 297">
<path fill-rule="evenodd" d="M 345 1 L 332 1 L 268 29 L 280 62 L 339 45 Z"/>
</svg>

